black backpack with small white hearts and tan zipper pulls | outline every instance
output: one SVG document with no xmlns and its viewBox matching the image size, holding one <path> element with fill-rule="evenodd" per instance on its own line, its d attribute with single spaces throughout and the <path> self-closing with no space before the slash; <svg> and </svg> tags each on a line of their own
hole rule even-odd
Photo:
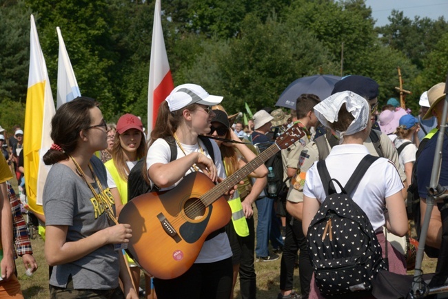
<svg viewBox="0 0 448 299">
<path fill-rule="evenodd" d="M 317 164 L 327 197 L 309 225 L 307 246 L 316 285 L 326 298 L 367 293 L 378 271 L 387 270 L 369 218 L 349 195 L 376 159 L 365 156 L 345 188 L 330 178 L 325 161 Z M 333 181 L 341 193 L 336 193 Z"/>
</svg>

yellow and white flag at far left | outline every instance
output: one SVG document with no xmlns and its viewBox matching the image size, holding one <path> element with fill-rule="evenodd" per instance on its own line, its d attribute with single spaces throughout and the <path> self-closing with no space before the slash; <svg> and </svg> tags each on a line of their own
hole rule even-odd
<svg viewBox="0 0 448 299">
<path fill-rule="evenodd" d="M 23 134 L 23 167 L 28 205 L 32 212 L 37 214 L 43 214 L 43 185 L 50 167 L 43 163 L 42 156 L 52 145 L 50 132 L 54 113 L 47 65 L 43 58 L 34 17 L 31 15 L 30 74 Z"/>
</svg>

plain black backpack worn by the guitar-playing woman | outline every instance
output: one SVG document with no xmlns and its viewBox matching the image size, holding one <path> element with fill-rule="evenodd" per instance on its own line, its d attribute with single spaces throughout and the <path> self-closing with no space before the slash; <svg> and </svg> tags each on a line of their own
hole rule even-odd
<svg viewBox="0 0 448 299">
<path fill-rule="evenodd" d="M 199 139 L 204 143 L 205 148 L 207 149 L 208 154 L 212 157 L 214 161 L 214 151 L 212 146 L 212 141 L 206 136 L 199 135 Z M 165 141 L 170 145 L 170 162 L 176 160 L 177 158 L 177 146 L 176 141 L 173 136 L 167 136 L 164 138 Z M 147 184 L 145 178 L 143 178 L 142 169 L 143 163 L 145 162 L 145 158 L 139 160 L 136 165 L 132 168 L 128 176 L 128 201 L 132 200 L 132 198 L 136 198 L 141 194 L 145 194 L 147 192 L 155 192 L 158 191 L 159 188 L 154 185 L 151 188 L 150 185 Z"/>
</svg>

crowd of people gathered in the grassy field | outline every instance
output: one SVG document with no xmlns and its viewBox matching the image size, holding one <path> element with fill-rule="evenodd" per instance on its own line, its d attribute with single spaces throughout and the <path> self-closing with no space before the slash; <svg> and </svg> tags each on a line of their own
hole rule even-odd
<svg viewBox="0 0 448 299">
<path fill-rule="evenodd" d="M 241 298 L 256 298 L 255 263 L 279 259 L 277 299 L 324 298 L 323 286 L 316 283 L 320 279 L 316 275 L 320 274 L 310 251 L 309 242 L 314 242 L 315 237 L 309 228 L 329 191 L 344 192 L 342 186 L 349 185 L 366 156 L 378 158 L 372 160 L 347 196 L 365 213 L 383 258 L 388 260 L 388 270 L 406 274 L 403 250 L 387 242 L 387 238 L 389 234 L 394 238 L 409 234 L 406 207 L 411 183 L 418 186 L 422 215 L 416 225 L 424 220 L 426 187 L 438 128 L 443 123 L 445 83 L 422 94 L 417 116 L 401 108 L 396 99 L 389 99 L 378 112 L 378 90 L 373 79 L 347 76 L 336 83 L 327 99 L 301 94 L 296 109 L 265 107 L 244 124 L 235 121 L 236 114 L 227 114 L 223 96 L 210 95 L 199 85 L 183 84 L 161 104 L 149 136 L 145 136 L 143 123 L 133 114 L 124 114 L 115 125 L 105 121 L 94 99 L 82 96 L 65 103 L 52 118 L 53 145 L 43 156 L 44 163 L 52 165 L 43 191 L 50 297 L 139 298 L 142 294 L 139 263 L 122 254 L 134 228 L 117 221 L 134 194 L 130 189 L 134 167 L 147 182 L 147 191 L 165 192 L 194 172 L 202 172 L 219 184 L 261 154 L 266 164 L 257 165 L 237 185 L 225 188 L 230 221 L 205 239 L 192 267 L 170 279 L 152 278 L 145 271 L 148 298 L 150 294 L 161 299 L 234 298 L 238 276 Z M 270 154 L 270 150 L 266 154 L 276 137 L 293 126 L 303 132 L 301 138 L 278 155 Z M 13 239 L 30 273 L 38 267 L 23 229 L 23 217 L 17 212 L 20 200 L 8 183 L 13 174 L 19 186 L 24 183 L 24 133 L 18 126 L 13 130 L 6 143 L 0 127 L 4 157 L 0 158 L 0 298 L 23 298 L 17 272 L 14 275 Z M 444 141 L 445 160 L 446 134 Z M 325 161 L 327 173 L 339 187 L 332 183 L 329 188 L 323 183 L 321 161 Z M 272 194 L 272 189 L 267 188 L 271 183 L 267 174 L 268 168 L 270 172 L 275 165 L 280 165 L 276 176 L 280 177 L 281 187 Z M 446 165 L 440 171 L 440 185 L 445 186 Z M 439 203 L 431 214 L 426 242 L 435 252 L 433 256 L 437 256 L 442 243 L 446 211 Z M 336 230 L 336 225 L 332 226 L 331 217 L 328 221 L 329 232 L 325 229 L 324 235 L 332 240 L 332 227 Z M 150 250 L 157 245 L 147 246 Z M 296 267 L 300 283 L 294 282 Z"/>
</svg>

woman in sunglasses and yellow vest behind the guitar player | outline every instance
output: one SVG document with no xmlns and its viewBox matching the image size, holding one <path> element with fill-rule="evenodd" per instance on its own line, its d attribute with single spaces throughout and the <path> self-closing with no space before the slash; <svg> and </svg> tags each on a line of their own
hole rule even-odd
<svg viewBox="0 0 448 299">
<path fill-rule="evenodd" d="M 215 116 L 212 118 L 210 135 L 240 141 L 235 132 L 230 128 L 227 114 L 221 110 L 213 110 L 213 112 Z M 215 141 L 221 150 L 227 176 L 232 175 L 236 170 L 243 167 L 247 161 L 253 160 L 256 156 L 244 144 Z M 262 164 L 249 176 L 263 178 L 266 175 L 267 168 Z M 252 218 L 254 211 L 252 210 L 252 203 L 258 194 L 250 198 L 250 180 L 246 177 L 243 181 L 245 183 L 238 185 L 237 192 L 228 201 L 232 209 L 232 222 L 225 227 L 233 253 L 232 263 L 234 275 L 231 298 L 233 298 L 233 288 L 235 287 L 238 272 L 240 273 L 241 296 L 243 298 L 255 298 L 256 291 L 256 275 L 254 271 L 254 218 Z"/>
</svg>

